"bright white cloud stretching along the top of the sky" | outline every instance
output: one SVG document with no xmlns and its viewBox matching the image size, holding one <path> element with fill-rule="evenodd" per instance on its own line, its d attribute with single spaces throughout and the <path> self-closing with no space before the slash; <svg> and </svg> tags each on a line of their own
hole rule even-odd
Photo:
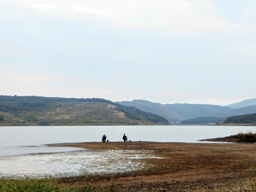
<svg viewBox="0 0 256 192">
<path fill-rule="evenodd" d="M 21 2 L 21 1 L 20 1 Z M 23 0 L 37 10 L 88 13 L 136 30 L 191 33 L 230 31 L 242 24 L 218 17 L 217 9 L 204 0 Z"/>
</svg>

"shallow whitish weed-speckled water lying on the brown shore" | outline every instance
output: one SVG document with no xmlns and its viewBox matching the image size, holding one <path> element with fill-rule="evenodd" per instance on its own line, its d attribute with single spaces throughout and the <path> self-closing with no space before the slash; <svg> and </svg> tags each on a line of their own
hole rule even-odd
<svg viewBox="0 0 256 192">
<path fill-rule="evenodd" d="M 145 168 L 146 158 L 159 158 L 152 151 L 80 150 L 61 153 L 34 153 L 0 158 L 0 170 L 11 177 L 69 177 L 89 174 L 116 174 Z"/>
</svg>

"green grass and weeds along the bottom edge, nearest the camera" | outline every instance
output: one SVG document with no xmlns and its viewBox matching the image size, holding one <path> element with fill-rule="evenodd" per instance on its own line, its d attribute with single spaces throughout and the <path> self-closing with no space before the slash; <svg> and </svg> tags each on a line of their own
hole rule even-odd
<svg viewBox="0 0 256 192">
<path fill-rule="evenodd" d="M 240 187 L 237 192 L 256 192 L 256 164 L 252 167 L 250 174 L 250 190 L 243 188 L 243 181 L 240 181 Z M 223 186 L 224 187 L 224 186 Z M 214 188 L 207 192 L 223 192 L 223 187 L 219 190 Z M 178 191 L 178 189 L 177 189 Z M 180 190 L 179 190 L 180 191 Z M 189 192 L 189 188 L 185 189 L 184 192 Z M 99 185 L 97 188 L 93 187 L 92 184 L 84 180 L 82 186 L 69 186 L 67 183 L 59 183 L 58 179 L 11 179 L 11 178 L 0 178 L 0 192 L 139 192 L 134 189 L 120 189 L 117 188 L 113 179 L 111 179 L 111 185 L 104 187 L 104 184 Z M 205 190 L 203 192 L 206 192 Z M 233 191 L 232 191 L 233 192 Z"/>
</svg>

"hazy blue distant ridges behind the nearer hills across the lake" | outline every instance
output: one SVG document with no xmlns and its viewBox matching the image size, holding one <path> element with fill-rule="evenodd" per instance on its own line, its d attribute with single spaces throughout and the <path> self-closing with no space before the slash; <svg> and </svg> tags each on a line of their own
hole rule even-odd
<svg viewBox="0 0 256 192">
<path fill-rule="evenodd" d="M 256 99 L 255 99 L 256 100 Z M 152 103 L 147 100 L 133 100 L 117 102 L 126 106 L 134 106 L 142 111 L 158 114 L 169 120 L 172 124 L 177 124 L 178 121 L 193 119 L 198 117 L 228 117 L 234 115 L 256 113 L 256 104 L 253 105 L 254 99 L 245 102 L 239 102 L 243 105 L 251 105 L 241 108 L 232 108 L 228 106 L 209 105 L 209 104 L 189 104 L 189 103 L 174 103 L 161 104 Z M 234 103 L 236 104 L 236 103 Z M 237 106 L 233 105 L 232 106 Z M 241 106 L 243 106 L 241 105 Z"/>
</svg>

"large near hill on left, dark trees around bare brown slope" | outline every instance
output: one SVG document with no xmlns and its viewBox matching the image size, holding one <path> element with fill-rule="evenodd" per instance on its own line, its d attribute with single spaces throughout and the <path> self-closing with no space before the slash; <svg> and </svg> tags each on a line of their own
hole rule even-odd
<svg viewBox="0 0 256 192">
<path fill-rule="evenodd" d="M 169 125 L 157 114 L 101 98 L 0 96 L 0 125 Z"/>
</svg>

